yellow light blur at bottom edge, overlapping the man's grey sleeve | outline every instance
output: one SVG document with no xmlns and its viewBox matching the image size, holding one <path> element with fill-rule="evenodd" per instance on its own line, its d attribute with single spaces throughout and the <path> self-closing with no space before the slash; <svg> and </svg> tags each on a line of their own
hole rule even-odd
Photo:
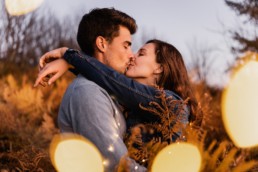
<svg viewBox="0 0 258 172">
<path fill-rule="evenodd" d="M 54 136 L 51 162 L 58 172 L 103 172 L 102 156 L 93 143 L 75 134 Z"/>
</svg>

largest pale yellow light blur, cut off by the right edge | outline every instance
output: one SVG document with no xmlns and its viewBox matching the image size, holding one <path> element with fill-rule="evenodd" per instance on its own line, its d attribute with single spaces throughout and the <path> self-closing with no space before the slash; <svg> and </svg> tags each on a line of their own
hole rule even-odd
<svg viewBox="0 0 258 172">
<path fill-rule="evenodd" d="M 233 75 L 222 96 L 222 119 L 236 146 L 258 145 L 258 62 L 249 61 Z"/>
</svg>

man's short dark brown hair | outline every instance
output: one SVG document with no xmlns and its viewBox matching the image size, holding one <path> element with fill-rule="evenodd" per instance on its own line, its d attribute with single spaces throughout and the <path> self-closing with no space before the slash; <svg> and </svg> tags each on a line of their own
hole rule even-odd
<svg viewBox="0 0 258 172">
<path fill-rule="evenodd" d="M 96 38 L 103 36 L 112 42 L 119 34 L 119 26 L 128 28 L 131 34 L 137 30 L 135 20 L 129 15 L 114 8 L 95 8 L 82 17 L 77 42 L 84 53 L 92 56 Z"/>
</svg>

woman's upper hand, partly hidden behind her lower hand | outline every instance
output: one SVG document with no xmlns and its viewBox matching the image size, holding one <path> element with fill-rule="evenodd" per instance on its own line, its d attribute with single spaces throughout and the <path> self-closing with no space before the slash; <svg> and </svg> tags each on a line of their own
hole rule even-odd
<svg viewBox="0 0 258 172">
<path fill-rule="evenodd" d="M 62 58 L 64 56 L 64 53 L 66 52 L 68 48 L 67 47 L 62 47 L 58 49 L 54 49 L 52 51 L 49 51 L 45 53 L 43 56 L 40 57 L 39 60 L 39 67 L 40 70 L 49 62 Z"/>
</svg>

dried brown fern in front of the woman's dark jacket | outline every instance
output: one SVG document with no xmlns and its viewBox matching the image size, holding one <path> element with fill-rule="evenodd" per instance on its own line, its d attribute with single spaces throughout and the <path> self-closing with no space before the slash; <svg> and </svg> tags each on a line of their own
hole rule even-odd
<svg viewBox="0 0 258 172">
<path fill-rule="evenodd" d="M 156 96 L 161 100 L 150 102 L 148 107 L 140 104 L 141 109 L 159 117 L 160 121 L 145 123 L 134 126 L 131 134 L 126 137 L 129 156 L 141 165 L 151 166 L 156 154 L 169 143 L 175 142 L 176 133 L 182 133 L 186 126 L 186 105 L 188 99 L 175 100 L 172 96 L 167 97 L 163 89 L 158 89 Z M 148 139 L 146 139 L 148 137 Z M 184 140 L 184 139 L 182 139 Z"/>
</svg>

